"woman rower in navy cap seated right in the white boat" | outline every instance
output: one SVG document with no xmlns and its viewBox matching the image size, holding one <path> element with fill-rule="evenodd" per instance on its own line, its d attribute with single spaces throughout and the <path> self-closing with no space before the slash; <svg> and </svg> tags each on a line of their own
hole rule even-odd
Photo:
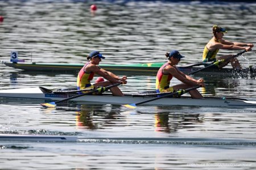
<svg viewBox="0 0 256 170">
<path fill-rule="evenodd" d="M 181 58 L 184 58 L 177 50 L 166 53 L 166 57 L 168 57 L 169 61 L 160 67 L 156 75 L 156 92 L 174 92 L 179 89 L 187 89 L 194 86 L 205 86 L 203 79 L 195 80 L 177 69 L 177 63 L 179 63 Z M 170 87 L 170 81 L 173 76 L 183 83 Z M 189 94 L 192 98 L 203 97 L 197 90 L 191 90 Z"/>
</svg>

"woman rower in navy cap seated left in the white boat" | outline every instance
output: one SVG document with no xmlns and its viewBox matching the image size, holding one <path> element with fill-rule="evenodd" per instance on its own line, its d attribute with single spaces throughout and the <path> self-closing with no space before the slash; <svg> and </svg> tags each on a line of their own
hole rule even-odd
<svg viewBox="0 0 256 170">
<path fill-rule="evenodd" d="M 101 69 L 101 67 L 98 66 L 98 64 L 101 62 L 101 59 L 104 58 L 105 57 L 103 57 L 102 54 L 98 51 L 93 51 L 89 54 L 89 56 L 87 56 L 89 61 L 84 65 L 84 67 L 82 67 L 77 76 L 78 90 L 83 90 L 85 88 L 94 89 L 98 87 L 106 87 L 115 83 L 127 83 L 127 76 L 119 78 L 117 75 L 111 73 L 110 71 Z M 90 81 L 93 79 L 94 74 L 100 75 L 108 81 L 91 84 Z M 117 86 L 110 88 L 110 91 L 114 96 L 123 96 L 122 91 Z"/>
</svg>

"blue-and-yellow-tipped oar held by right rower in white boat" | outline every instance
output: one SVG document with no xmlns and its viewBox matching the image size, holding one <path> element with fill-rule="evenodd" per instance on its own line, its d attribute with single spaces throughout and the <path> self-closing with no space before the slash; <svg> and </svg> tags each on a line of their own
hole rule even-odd
<svg viewBox="0 0 256 170">
<path fill-rule="evenodd" d="M 122 105 L 123 107 L 126 107 L 126 108 L 131 108 L 131 109 L 135 109 L 137 105 L 140 105 L 140 104 L 143 104 L 143 103 L 148 103 L 150 101 L 154 101 L 154 100 L 158 100 L 158 99 L 162 99 L 164 97 L 169 97 L 169 96 L 174 96 L 174 95 L 182 95 L 182 94 L 185 94 L 191 90 L 195 90 L 196 88 L 199 88 L 200 86 L 195 86 L 195 87 L 191 87 L 191 88 L 188 88 L 186 90 L 179 90 L 179 91 L 176 91 L 176 92 L 172 92 L 171 94 L 168 94 L 168 95 L 163 95 L 163 96 L 160 96 L 160 97 L 155 97 L 154 99 L 149 99 L 149 100 L 145 100 L 145 101 L 141 101 L 139 103 L 132 103 L 132 104 L 125 104 L 125 105 Z"/>
</svg>

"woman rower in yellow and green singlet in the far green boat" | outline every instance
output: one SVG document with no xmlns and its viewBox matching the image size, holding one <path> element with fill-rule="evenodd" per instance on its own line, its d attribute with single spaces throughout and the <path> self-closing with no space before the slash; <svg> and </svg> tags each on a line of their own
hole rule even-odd
<svg viewBox="0 0 256 170">
<path fill-rule="evenodd" d="M 224 33 L 226 33 L 225 28 L 218 27 L 217 25 L 213 25 L 212 28 L 213 37 L 210 41 L 205 45 L 203 52 L 203 62 L 208 61 L 216 61 L 216 54 L 219 49 L 228 49 L 228 50 L 246 50 L 250 51 L 253 48 L 253 44 L 250 43 L 241 43 L 241 42 L 230 42 L 222 39 Z M 218 57 L 218 60 L 226 59 L 226 62 L 221 63 L 218 67 L 222 68 L 230 62 L 234 69 L 242 69 L 237 58 L 232 58 L 233 55 L 225 55 Z"/>
</svg>

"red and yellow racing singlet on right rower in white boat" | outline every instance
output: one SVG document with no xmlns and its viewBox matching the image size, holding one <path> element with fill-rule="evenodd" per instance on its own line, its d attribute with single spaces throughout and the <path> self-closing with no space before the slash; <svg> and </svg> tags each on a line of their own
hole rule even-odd
<svg viewBox="0 0 256 170">
<path fill-rule="evenodd" d="M 163 74 L 163 69 L 170 63 L 165 63 L 160 69 L 158 70 L 158 74 L 156 74 L 156 82 L 155 88 L 156 92 L 173 92 L 174 88 L 170 87 L 170 81 L 172 79 L 171 74 Z"/>
</svg>

